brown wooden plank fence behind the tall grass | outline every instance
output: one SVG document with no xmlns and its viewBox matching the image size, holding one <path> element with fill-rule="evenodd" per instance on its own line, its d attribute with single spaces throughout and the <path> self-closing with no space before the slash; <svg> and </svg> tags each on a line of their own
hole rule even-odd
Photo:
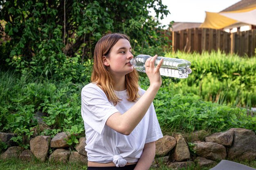
<svg viewBox="0 0 256 170">
<path fill-rule="evenodd" d="M 173 31 L 172 50 L 173 51 L 212 51 L 221 50 L 225 53 L 237 53 L 240 56 L 255 55 L 256 29 L 237 33 L 227 33 L 217 29 L 186 29 Z"/>
</svg>

